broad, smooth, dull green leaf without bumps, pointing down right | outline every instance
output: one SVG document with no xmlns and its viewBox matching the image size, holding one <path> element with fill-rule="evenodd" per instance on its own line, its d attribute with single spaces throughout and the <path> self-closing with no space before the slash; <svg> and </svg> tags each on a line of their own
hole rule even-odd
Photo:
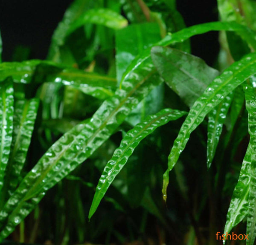
<svg viewBox="0 0 256 245">
<path fill-rule="evenodd" d="M 219 72 L 200 58 L 177 49 L 156 46 L 151 57 L 166 84 L 192 107 Z"/>
</svg>

